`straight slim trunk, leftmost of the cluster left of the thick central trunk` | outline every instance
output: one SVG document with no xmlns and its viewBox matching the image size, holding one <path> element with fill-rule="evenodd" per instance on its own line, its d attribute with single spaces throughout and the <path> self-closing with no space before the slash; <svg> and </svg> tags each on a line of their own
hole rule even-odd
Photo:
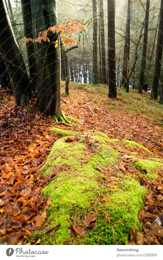
<svg viewBox="0 0 163 260">
<path fill-rule="evenodd" d="M 98 83 L 97 71 L 97 2 L 92 0 L 93 6 L 93 84 Z"/>
</svg>

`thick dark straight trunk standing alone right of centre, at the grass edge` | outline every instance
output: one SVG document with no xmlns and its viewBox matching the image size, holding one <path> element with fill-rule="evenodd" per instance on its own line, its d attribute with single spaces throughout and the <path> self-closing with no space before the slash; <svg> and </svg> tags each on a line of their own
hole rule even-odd
<svg viewBox="0 0 163 260">
<path fill-rule="evenodd" d="M 116 98 L 115 0 L 108 0 L 108 70 L 108 96 Z"/>
</svg>

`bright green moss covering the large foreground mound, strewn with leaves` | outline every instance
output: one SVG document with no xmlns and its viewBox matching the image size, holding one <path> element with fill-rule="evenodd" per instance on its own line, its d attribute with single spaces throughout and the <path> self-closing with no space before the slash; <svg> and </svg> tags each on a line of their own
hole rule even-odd
<svg viewBox="0 0 163 260">
<path fill-rule="evenodd" d="M 75 132 L 66 132 L 66 130 L 56 128 L 52 131 L 57 134 L 64 133 L 63 135 L 66 136 L 75 135 Z M 88 138 L 88 133 L 90 141 L 97 140 L 95 147 L 107 160 L 104 160 L 99 153 L 93 152 L 88 145 L 86 146 L 85 138 Z M 57 170 L 57 178 L 43 189 L 42 194 L 52 200 L 48 210 L 51 225 L 60 224 L 54 239 L 47 234 L 44 235 L 44 239 L 47 244 L 127 244 L 130 231 L 141 228 L 138 212 L 143 203 L 143 195 L 147 190 L 141 187 L 138 178 L 126 176 L 124 179 L 114 169 L 112 176 L 121 178 L 113 180 L 112 187 L 107 186 L 110 175 L 107 175 L 107 171 L 101 172 L 96 167 L 100 165 L 106 169 L 110 166 L 108 161 L 117 165 L 122 155 L 111 147 L 111 140 L 104 133 L 91 130 L 82 136 L 83 141 L 81 138 L 80 141 L 76 139 L 73 142 L 66 142 L 65 138 L 57 140 L 45 165 L 41 168 L 44 175 Z M 120 145 L 120 143 L 117 142 L 116 145 Z M 140 148 L 138 145 L 135 147 Z M 135 156 L 136 150 L 134 153 Z M 87 160 L 83 162 L 85 157 Z M 153 158 L 139 160 L 135 164 L 140 169 L 148 168 L 148 174 L 151 176 L 154 169 L 163 165 L 161 160 Z M 107 197 L 107 201 L 103 199 L 104 197 Z M 85 217 L 92 212 L 98 214 L 96 224 L 84 235 L 83 233 L 74 234 L 74 240 L 72 240 L 70 232 L 68 232 L 69 219 L 85 223 Z M 41 239 L 40 243 L 45 242 Z"/>
</svg>

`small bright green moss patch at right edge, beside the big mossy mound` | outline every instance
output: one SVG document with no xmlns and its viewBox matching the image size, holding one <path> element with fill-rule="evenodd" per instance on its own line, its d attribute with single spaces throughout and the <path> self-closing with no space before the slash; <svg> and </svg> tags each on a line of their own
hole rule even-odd
<svg viewBox="0 0 163 260">
<path fill-rule="evenodd" d="M 141 169 L 145 169 L 147 171 L 146 176 L 149 179 L 153 179 L 158 177 L 154 170 L 163 166 L 163 161 L 158 158 L 152 158 L 151 160 L 140 159 L 138 162 L 135 162 L 135 165 L 138 165 Z"/>
</svg>

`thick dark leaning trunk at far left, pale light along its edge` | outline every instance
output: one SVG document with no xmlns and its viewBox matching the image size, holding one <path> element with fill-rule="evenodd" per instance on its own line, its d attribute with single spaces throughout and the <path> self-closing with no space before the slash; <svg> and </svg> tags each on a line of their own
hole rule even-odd
<svg viewBox="0 0 163 260">
<path fill-rule="evenodd" d="M 25 100 L 30 89 L 30 84 L 21 51 L 19 50 L 13 34 L 4 0 L 0 1 L 0 10 L 0 27 L 5 29 L 3 37 L 0 37 L 0 55 L 2 56 L 9 73 L 15 103 L 19 106 Z"/>
</svg>

